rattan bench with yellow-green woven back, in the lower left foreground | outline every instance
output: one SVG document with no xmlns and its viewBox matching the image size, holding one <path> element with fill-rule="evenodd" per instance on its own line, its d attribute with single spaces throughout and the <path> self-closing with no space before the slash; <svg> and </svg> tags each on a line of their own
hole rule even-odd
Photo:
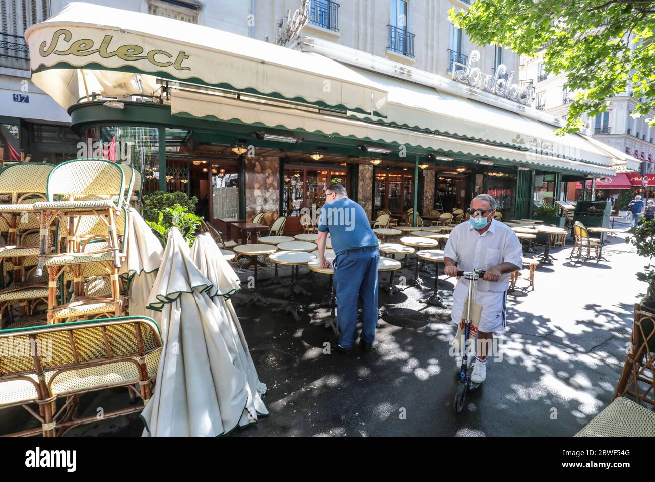
<svg viewBox="0 0 655 482">
<path fill-rule="evenodd" d="M 54 437 L 98 422 L 98 414 L 78 418 L 79 397 L 106 388 L 126 387 L 143 405 L 103 418 L 141 411 L 152 395 L 161 350 L 157 323 L 141 316 L 0 330 L 0 409 L 22 406 L 41 423 L 7 435 Z"/>
</svg>

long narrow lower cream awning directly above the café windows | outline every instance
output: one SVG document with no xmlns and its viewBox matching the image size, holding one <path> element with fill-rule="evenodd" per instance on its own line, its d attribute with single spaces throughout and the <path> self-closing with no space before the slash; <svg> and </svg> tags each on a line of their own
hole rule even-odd
<svg viewBox="0 0 655 482">
<path fill-rule="evenodd" d="M 570 170 L 584 174 L 614 176 L 612 167 L 571 161 L 533 151 L 519 150 L 441 134 L 374 123 L 351 117 L 297 110 L 266 102 L 179 90 L 171 97 L 171 113 L 189 117 L 238 121 L 253 126 L 321 132 L 329 136 L 421 147 L 446 153 L 488 157 L 526 165 Z"/>
</svg>

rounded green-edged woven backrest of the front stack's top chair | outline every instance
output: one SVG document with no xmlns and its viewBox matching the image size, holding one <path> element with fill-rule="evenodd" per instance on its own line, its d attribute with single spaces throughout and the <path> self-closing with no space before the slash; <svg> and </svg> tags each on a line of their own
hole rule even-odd
<svg viewBox="0 0 655 482">
<path fill-rule="evenodd" d="M 121 165 L 102 159 L 79 159 L 67 161 L 52 169 L 48 177 L 48 201 L 59 201 L 68 197 L 95 197 L 115 200 L 122 205 L 126 180 Z"/>
</svg>

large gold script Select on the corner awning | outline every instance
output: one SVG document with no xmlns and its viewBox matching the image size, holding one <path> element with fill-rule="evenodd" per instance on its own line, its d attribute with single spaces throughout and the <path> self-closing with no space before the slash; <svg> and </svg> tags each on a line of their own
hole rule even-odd
<svg viewBox="0 0 655 482">
<path fill-rule="evenodd" d="M 122 60 L 128 61 L 147 59 L 148 62 L 158 67 L 173 66 L 173 68 L 176 70 L 191 70 L 190 67 L 182 65 L 182 62 L 189 58 L 185 52 L 179 52 L 175 60 L 172 61 L 165 60 L 167 58 L 173 58 L 173 55 L 166 52 L 166 50 L 153 49 L 149 50 L 149 52 L 144 55 L 143 47 L 140 45 L 121 45 L 115 50 L 110 50 L 109 44 L 114 38 L 112 35 L 105 35 L 97 49 L 94 49 L 95 45 L 92 39 L 79 39 L 71 43 L 72 38 L 73 34 L 70 30 L 60 28 L 52 34 L 50 45 L 48 45 L 47 42 L 41 43 L 39 46 L 39 53 L 43 57 L 48 57 L 53 54 L 60 56 L 74 55 L 77 57 L 85 57 L 88 55 L 98 54 L 102 58 L 119 57 Z M 62 40 L 65 45 L 58 49 L 60 41 Z"/>
</svg>

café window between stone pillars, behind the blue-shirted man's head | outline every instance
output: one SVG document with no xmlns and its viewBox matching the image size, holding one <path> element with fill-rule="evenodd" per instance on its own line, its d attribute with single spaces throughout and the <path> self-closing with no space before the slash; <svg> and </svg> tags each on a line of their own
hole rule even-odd
<svg viewBox="0 0 655 482">
<path fill-rule="evenodd" d="M 348 169 L 326 167 L 288 166 L 284 169 L 284 193 L 282 205 L 287 217 L 300 216 L 301 209 L 320 211 L 326 203 L 326 188 L 338 182 L 348 190 Z"/>
</svg>

